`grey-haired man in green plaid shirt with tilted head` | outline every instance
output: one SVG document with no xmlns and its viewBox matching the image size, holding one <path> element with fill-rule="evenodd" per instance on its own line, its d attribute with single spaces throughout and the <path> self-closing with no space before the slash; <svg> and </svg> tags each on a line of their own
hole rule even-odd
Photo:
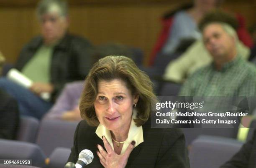
<svg viewBox="0 0 256 168">
<path fill-rule="evenodd" d="M 238 54 L 236 31 L 226 23 L 212 22 L 202 33 L 213 62 L 192 74 L 179 95 L 255 96 L 256 67 Z"/>
</svg>

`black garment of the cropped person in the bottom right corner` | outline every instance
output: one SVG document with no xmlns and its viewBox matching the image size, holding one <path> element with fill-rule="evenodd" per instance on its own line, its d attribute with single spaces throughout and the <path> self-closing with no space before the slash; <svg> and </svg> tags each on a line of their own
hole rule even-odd
<svg viewBox="0 0 256 168">
<path fill-rule="evenodd" d="M 256 168 L 256 130 L 253 138 L 220 168 Z"/>
</svg>

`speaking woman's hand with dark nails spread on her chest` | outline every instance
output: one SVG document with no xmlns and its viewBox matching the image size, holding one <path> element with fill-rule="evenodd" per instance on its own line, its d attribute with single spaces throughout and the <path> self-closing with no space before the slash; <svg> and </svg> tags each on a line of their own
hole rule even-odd
<svg viewBox="0 0 256 168">
<path fill-rule="evenodd" d="M 97 151 L 97 155 L 100 158 L 100 163 L 104 166 L 104 168 L 125 168 L 131 151 L 134 148 L 135 141 L 129 144 L 128 148 L 123 154 L 118 155 L 111 148 L 108 140 L 104 136 L 102 139 L 104 147 L 107 151 L 105 151 L 101 145 L 97 145 L 97 148 L 99 149 L 99 151 Z"/>
</svg>

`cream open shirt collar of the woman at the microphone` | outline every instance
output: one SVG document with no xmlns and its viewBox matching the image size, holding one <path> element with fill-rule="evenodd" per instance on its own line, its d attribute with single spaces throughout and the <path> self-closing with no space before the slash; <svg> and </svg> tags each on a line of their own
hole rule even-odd
<svg viewBox="0 0 256 168">
<path fill-rule="evenodd" d="M 136 123 L 133 120 L 133 119 L 136 119 L 136 115 L 137 115 L 136 110 L 133 110 L 133 116 L 132 116 L 132 120 L 131 120 L 131 125 L 130 125 L 129 132 L 128 132 L 128 138 L 125 140 L 125 142 L 123 144 L 123 148 L 122 148 L 121 154 L 123 154 L 125 152 L 125 150 L 128 148 L 128 145 L 133 140 L 135 141 L 135 146 L 134 147 L 138 146 L 140 143 L 143 143 L 143 130 L 142 130 L 142 126 L 137 127 Z M 114 150 L 114 146 L 113 146 L 110 130 L 105 128 L 104 125 L 99 124 L 95 133 L 101 139 L 102 139 L 102 136 L 104 135 L 105 138 L 108 140 L 108 143 L 111 145 L 112 149 Z"/>
</svg>

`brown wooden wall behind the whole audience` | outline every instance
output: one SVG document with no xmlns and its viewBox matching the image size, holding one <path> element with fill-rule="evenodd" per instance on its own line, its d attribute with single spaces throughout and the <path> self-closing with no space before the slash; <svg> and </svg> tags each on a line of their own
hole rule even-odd
<svg viewBox="0 0 256 168">
<path fill-rule="evenodd" d="M 70 32 L 94 44 L 112 41 L 141 48 L 146 62 L 161 29 L 161 15 L 190 0 L 138 1 L 72 0 Z M 0 0 L 0 51 L 10 63 L 15 62 L 23 45 L 39 33 L 35 5 L 32 0 Z M 223 8 L 241 13 L 247 25 L 256 23 L 254 0 L 226 0 Z"/>
</svg>

